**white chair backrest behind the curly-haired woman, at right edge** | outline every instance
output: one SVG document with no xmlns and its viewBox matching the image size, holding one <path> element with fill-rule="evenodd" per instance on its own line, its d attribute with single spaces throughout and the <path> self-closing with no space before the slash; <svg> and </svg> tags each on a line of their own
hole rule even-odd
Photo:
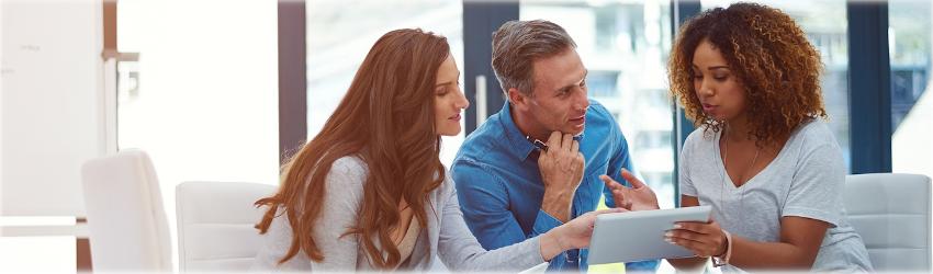
<svg viewBox="0 0 933 274">
<path fill-rule="evenodd" d="M 848 221 L 875 270 L 930 272 L 930 178 L 876 173 L 845 181 Z"/>
</svg>

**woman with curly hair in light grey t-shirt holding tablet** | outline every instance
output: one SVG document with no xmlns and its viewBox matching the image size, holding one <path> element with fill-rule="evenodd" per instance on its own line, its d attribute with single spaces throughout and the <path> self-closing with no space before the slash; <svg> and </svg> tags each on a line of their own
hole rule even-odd
<svg viewBox="0 0 933 274">
<path fill-rule="evenodd" d="M 820 55 L 780 10 L 754 3 L 685 23 L 671 91 L 698 127 L 681 153 L 681 205 L 713 207 L 668 242 L 726 271 L 870 271 L 843 206 L 845 167 L 820 90 Z"/>
</svg>

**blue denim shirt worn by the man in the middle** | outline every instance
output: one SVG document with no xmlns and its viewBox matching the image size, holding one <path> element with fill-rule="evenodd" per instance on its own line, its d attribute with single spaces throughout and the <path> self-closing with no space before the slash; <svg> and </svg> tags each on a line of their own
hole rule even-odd
<svg viewBox="0 0 933 274">
<path fill-rule="evenodd" d="M 571 217 L 596 209 L 600 195 L 615 207 L 599 175 L 621 179 L 621 168 L 632 170 L 626 137 L 609 111 L 591 100 L 586 126 L 578 137 L 585 159 L 583 182 L 576 190 Z M 532 152 L 509 113 L 508 102 L 470 134 L 457 152 L 451 175 L 463 218 L 483 248 L 493 250 L 544 233 L 562 222 L 541 210 L 544 185 Z M 587 250 L 570 250 L 551 260 L 549 270 L 586 271 Z M 654 271 L 657 261 L 627 263 L 628 271 Z"/>
</svg>

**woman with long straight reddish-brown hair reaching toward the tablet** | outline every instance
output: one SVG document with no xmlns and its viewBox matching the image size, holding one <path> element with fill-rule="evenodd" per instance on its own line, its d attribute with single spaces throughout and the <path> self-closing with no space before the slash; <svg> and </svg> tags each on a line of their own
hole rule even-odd
<svg viewBox="0 0 933 274">
<path fill-rule="evenodd" d="M 459 77 L 445 37 L 383 35 L 278 193 L 256 202 L 268 210 L 254 270 L 417 271 L 437 256 L 454 271 L 522 270 L 588 246 L 598 213 L 498 250 L 477 243 L 439 159 L 470 104 Z"/>
</svg>

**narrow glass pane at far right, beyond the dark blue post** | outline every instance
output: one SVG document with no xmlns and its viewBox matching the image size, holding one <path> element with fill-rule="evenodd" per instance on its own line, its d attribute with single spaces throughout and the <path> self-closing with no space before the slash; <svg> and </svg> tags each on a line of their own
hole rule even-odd
<svg viewBox="0 0 933 274">
<path fill-rule="evenodd" d="M 926 92 L 933 53 L 931 2 L 890 0 L 888 12 L 892 170 L 933 176 L 933 98 Z"/>
</svg>

